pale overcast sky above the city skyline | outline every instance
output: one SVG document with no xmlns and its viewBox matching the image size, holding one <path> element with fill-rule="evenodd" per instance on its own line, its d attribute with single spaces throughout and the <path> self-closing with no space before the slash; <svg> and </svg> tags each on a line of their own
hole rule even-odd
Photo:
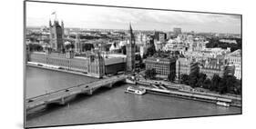
<svg viewBox="0 0 256 129">
<path fill-rule="evenodd" d="M 241 34 L 240 15 L 213 15 L 175 11 L 130 9 L 91 5 L 26 2 L 26 25 L 48 26 L 49 19 L 63 20 L 65 27 L 135 30 L 215 32 Z"/>
</svg>

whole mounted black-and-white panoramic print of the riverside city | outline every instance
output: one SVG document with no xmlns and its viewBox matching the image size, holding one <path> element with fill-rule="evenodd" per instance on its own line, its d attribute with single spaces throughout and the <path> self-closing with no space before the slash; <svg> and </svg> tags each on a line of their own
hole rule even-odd
<svg viewBox="0 0 256 129">
<path fill-rule="evenodd" d="M 241 44 L 241 15 L 26 2 L 26 127 L 241 114 Z"/>
</svg>

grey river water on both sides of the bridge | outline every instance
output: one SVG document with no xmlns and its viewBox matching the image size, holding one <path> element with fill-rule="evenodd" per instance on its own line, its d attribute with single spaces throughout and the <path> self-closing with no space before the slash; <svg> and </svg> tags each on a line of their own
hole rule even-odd
<svg viewBox="0 0 256 129">
<path fill-rule="evenodd" d="M 96 78 L 26 66 L 26 98 L 97 81 Z M 102 87 L 92 95 L 78 95 L 67 105 L 51 105 L 26 117 L 27 127 L 93 124 L 148 119 L 241 114 L 239 107 L 186 100 L 159 94 L 126 94 L 129 84 Z"/>
</svg>

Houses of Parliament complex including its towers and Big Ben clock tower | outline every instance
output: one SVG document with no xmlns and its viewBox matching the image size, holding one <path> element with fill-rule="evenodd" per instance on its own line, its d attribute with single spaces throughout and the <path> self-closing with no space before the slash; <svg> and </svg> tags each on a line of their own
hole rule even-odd
<svg viewBox="0 0 256 129">
<path fill-rule="evenodd" d="M 120 71 L 131 72 L 135 65 L 135 39 L 131 25 L 129 25 L 127 56 L 111 56 L 108 58 L 101 52 L 94 50 L 86 55 L 75 55 L 79 52 L 79 40 L 76 40 L 75 49 L 66 48 L 64 44 L 64 23 L 58 21 L 53 24 L 49 21 L 50 47 L 45 52 L 26 52 L 26 61 L 46 65 L 56 65 L 63 69 L 90 74 L 101 78 L 105 74 L 117 74 Z"/>
</svg>

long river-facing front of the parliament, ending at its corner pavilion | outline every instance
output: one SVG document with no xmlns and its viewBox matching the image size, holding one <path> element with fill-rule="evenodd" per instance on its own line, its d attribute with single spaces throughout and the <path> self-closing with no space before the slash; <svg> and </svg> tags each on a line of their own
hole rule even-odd
<svg viewBox="0 0 256 129">
<path fill-rule="evenodd" d="M 102 77 L 104 73 L 104 60 L 100 55 L 89 55 L 88 57 L 74 56 L 74 52 L 60 53 L 38 53 L 30 54 L 28 61 L 46 65 L 56 65 L 67 70 L 93 74 Z"/>
</svg>

